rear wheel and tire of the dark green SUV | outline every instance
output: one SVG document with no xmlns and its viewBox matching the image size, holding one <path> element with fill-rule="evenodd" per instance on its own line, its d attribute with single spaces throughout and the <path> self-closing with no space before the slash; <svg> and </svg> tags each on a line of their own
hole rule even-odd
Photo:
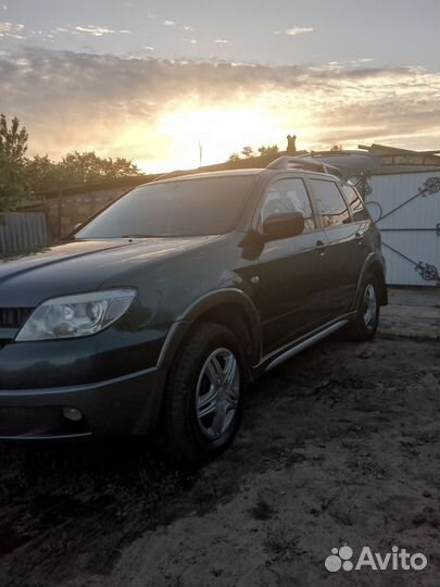
<svg viewBox="0 0 440 587">
<path fill-rule="evenodd" d="M 379 322 L 379 289 L 376 277 L 368 273 L 363 280 L 357 301 L 356 315 L 350 323 L 347 334 L 352 340 L 370 340 Z"/>
</svg>

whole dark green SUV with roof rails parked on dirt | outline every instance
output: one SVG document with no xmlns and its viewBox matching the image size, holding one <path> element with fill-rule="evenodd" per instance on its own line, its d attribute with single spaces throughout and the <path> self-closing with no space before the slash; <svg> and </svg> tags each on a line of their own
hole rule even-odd
<svg viewBox="0 0 440 587">
<path fill-rule="evenodd" d="M 248 382 L 387 303 L 380 235 L 314 158 L 137 187 L 64 242 L 0 264 L 0 437 L 154 433 L 200 462 Z"/>
</svg>

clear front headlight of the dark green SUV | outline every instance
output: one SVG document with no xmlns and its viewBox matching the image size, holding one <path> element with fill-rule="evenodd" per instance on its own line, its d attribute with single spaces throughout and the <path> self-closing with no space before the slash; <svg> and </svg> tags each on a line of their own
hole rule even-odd
<svg viewBox="0 0 440 587">
<path fill-rule="evenodd" d="M 135 297 L 136 290 L 126 288 L 52 298 L 34 310 L 15 340 L 90 336 L 120 319 Z"/>
</svg>

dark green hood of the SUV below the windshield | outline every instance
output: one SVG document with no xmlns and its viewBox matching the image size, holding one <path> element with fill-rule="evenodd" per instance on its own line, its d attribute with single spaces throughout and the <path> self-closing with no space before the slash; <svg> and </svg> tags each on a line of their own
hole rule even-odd
<svg viewBox="0 0 440 587">
<path fill-rule="evenodd" d="M 75 240 L 0 260 L 0 308 L 99 289 L 120 274 L 160 262 L 218 236 Z"/>
</svg>

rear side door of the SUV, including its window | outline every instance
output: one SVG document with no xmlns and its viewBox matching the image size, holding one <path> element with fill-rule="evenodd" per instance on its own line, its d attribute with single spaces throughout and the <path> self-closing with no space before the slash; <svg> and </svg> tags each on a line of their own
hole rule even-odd
<svg viewBox="0 0 440 587">
<path fill-rule="evenodd" d="M 349 311 L 354 297 L 362 266 L 362 229 L 352 222 L 345 199 L 334 178 L 313 177 L 307 183 L 327 235 L 327 302 L 331 316 L 336 317 Z"/>
</svg>

